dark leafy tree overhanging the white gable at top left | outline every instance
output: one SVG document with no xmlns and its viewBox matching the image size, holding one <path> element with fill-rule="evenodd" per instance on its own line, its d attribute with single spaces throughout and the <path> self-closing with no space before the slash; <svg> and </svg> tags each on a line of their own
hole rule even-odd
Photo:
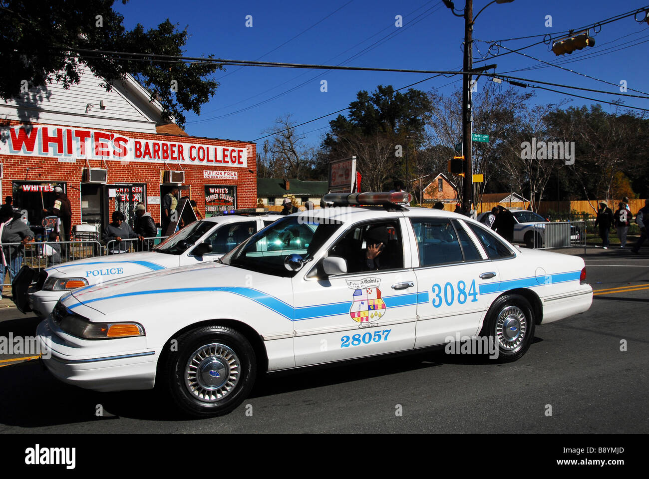
<svg viewBox="0 0 649 479">
<path fill-rule="evenodd" d="M 162 104 L 167 121 L 173 117 L 182 126 L 183 112 L 199 114 L 218 86 L 212 75 L 223 66 L 95 52 L 184 53 L 186 29 L 178 30 L 166 19 L 155 29 L 145 31 L 138 23 L 128 31 L 113 4 L 114 0 L 0 0 L 0 62 L 5 66 L 0 98 L 16 98 L 25 95 L 25 86 L 43 88 L 52 81 L 69 88 L 79 82 L 85 65 L 104 80 L 107 90 L 125 74 L 134 75 L 149 89 L 151 99 Z"/>
</svg>

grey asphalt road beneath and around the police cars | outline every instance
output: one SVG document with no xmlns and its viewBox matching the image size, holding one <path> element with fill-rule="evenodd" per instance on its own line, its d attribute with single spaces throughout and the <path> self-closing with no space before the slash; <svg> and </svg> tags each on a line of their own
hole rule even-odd
<svg viewBox="0 0 649 479">
<path fill-rule="evenodd" d="M 234 412 L 200 421 L 180 419 L 155 391 L 95 393 L 38 362 L 10 363 L 0 367 L 0 433 L 646 434 L 649 256 L 590 250 L 585 259 L 602 290 L 591 309 L 538 326 L 515 363 L 437 351 L 275 373 Z M 0 336 L 31 335 L 37 323 L 0 310 Z"/>
</svg>

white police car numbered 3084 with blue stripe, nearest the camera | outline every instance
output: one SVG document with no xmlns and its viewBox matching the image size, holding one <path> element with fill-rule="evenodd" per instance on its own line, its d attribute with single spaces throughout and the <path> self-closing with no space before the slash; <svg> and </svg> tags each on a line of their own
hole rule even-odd
<svg viewBox="0 0 649 479">
<path fill-rule="evenodd" d="M 328 195 L 384 208 L 288 215 L 218 262 L 72 291 L 38 326 L 51 337 L 45 365 L 97 391 L 162 383 L 182 410 L 206 417 L 236 408 L 258 372 L 448 336 L 493 337 L 500 359 L 516 360 L 535 325 L 591 306 L 582 258 L 520 251 L 467 217 L 395 204 L 409 199 Z"/>
</svg>

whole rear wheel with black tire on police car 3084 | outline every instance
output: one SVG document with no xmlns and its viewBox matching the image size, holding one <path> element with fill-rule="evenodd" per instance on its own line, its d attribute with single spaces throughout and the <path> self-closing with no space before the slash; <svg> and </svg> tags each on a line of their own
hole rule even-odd
<svg viewBox="0 0 649 479">
<path fill-rule="evenodd" d="M 480 336 L 496 341 L 499 362 L 511 362 L 522 358 L 530 349 L 534 326 L 530 302 L 521 295 L 504 295 L 489 308 Z"/>
</svg>

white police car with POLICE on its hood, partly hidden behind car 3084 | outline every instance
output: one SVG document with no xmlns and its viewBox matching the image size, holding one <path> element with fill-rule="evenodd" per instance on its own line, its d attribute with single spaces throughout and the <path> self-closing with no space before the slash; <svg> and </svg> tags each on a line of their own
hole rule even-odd
<svg viewBox="0 0 649 479">
<path fill-rule="evenodd" d="M 232 213 L 195 221 L 151 251 L 99 256 L 49 267 L 40 273 L 36 285 L 31 288 L 28 285 L 36 273 L 29 275 L 25 272 L 26 281 L 19 278 L 16 284 L 14 301 L 23 313 L 32 310 L 46 317 L 58 299 L 72 289 L 217 260 L 251 234 L 281 217 L 264 214 L 254 208 L 234 210 Z"/>
</svg>

